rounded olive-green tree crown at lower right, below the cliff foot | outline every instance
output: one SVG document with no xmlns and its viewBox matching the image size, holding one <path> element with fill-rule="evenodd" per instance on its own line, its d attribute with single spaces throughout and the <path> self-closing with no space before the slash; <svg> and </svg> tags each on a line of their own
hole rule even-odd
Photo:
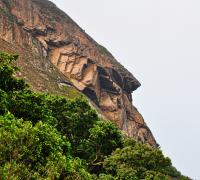
<svg viewBox="0 0 200 180">
<path fill-rule="evenodd" d="M 130 139 L 125 141 L 124 148 L 117 149 L 105 160 L 104 168 L 107 173 L 121 179 L 129 179 L 130 174 L 135 179 L 164 180 L 168 176 L 180 177 L 170 159 L 164 157 L 159 149 Z"/>
</svg>

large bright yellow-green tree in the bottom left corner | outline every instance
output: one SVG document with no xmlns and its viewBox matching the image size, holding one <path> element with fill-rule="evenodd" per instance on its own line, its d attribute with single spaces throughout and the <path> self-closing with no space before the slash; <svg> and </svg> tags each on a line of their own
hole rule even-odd
<svg viewBox="0 0 200 180">
<path fill-rule="evenodd" d="M 50 125 L 38 122 L 33 126 L 8 114 L 0 117 L 0 135 L 2 176 L 11 179 L 13 173 L 24 177 L 30 172 L 31 177 L 57 177 L 62 171 L 70 171 L 66 167 L 70 143 Z"/>
</svg>

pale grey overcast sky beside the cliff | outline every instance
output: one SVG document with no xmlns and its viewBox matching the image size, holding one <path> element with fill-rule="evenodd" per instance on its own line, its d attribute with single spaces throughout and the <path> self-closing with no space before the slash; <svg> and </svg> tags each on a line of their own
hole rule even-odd
<svg viewBox="0 0 200 180">
<path fill-rule="evenodd" d="M 200 180 L 200 1 L 52 1 L 139 79 L 133 103 L 174 166 Z"/>
</svg>

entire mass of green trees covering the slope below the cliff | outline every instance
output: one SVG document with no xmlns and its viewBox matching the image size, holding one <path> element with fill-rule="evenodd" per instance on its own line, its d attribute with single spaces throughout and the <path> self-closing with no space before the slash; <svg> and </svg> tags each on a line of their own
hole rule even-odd
<svg viewBox="0 0 200 180">
<path fill-rule="evenodd" d="M 161 150 L 124 139 L 84 97 L 32 92 L 0 53 L 0 179 L 188 179 Z"/>
</svg>

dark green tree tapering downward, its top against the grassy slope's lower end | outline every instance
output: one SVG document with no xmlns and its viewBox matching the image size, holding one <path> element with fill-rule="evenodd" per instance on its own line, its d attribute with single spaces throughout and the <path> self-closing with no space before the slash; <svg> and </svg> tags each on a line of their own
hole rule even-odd
<svg viewBox="0 0 200 180">
<path fill-rule="evenodd" d="M 96 111 L 84 97 L 67 100 L 64 97 L 48 96 L 47 104 L 58 120 L 57 129 L 69 138 L 76 154 L 81 139 L 89 136 L 89 129 L 99 120 Z"/>
</svg>

